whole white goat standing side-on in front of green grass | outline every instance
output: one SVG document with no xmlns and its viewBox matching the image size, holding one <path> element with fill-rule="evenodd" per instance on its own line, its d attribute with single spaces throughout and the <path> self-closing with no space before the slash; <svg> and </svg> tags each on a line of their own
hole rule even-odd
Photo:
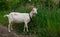
<svg viewBox="0 0 60 37">
<path fill-rule="evenodd" d="M 35 16 L 37 14 L 37 9 L 33 8 L 32 11 L 30 13 L 18 13 L 18 12 L 11 12 L 8 15 L 4 15 L 8 17 L 9 20 L 9 25 L 8 25 L 8 31 L 10 32 L 10 28 L 11 30 L 13 30 L 12 28 L 12 23 L 22 23 L 24 22 L 24 31 L 25 28 L 28 31 L 28 23 L 31 20 L 32 16 Z"/>
</svg>

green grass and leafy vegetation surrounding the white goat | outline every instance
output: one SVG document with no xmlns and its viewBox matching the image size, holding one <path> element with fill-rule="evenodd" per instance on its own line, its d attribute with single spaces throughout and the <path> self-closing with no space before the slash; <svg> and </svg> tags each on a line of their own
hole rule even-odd
<svg viewBox="0 0 60 37">
<path fill-rule="evenodd" d="M 38 14 L 29 22 L 29 32 L 36 37 L 60 37 L 60 0 L 0 0 L 0 23 L 8 26 L 8 18 L 3 17 L 11 11 L 29 13 L 31 6 L 38 8 Z M 22 34 L 23 23 L 14 24 L 14 30 Z"/>
</svg>

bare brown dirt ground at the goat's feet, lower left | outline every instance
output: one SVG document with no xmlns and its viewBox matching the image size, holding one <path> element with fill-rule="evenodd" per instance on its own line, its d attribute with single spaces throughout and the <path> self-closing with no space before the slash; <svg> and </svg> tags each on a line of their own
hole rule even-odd
<svg viewBox="0 0 60 37">
<path fill-rule="evenodd" d="M 7 27 L 0 25 L 0 37 L 36 37 L 35 35 L 22 35 L 15 32 L 8 32 Z"/>
</svg>

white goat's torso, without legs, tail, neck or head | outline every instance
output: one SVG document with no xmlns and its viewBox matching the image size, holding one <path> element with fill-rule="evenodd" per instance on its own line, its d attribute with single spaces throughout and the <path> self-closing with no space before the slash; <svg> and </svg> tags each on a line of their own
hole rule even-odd
<svg viewBox="0 0 60 37">
<path fill-rule="evenodd" d="M 28 13 L 12 12 L 9 14 L 9 18 L 13 19 L 13 21 L 16 23 L 29 22 L 30 21 L 30 16 Z"/>
</svg>

